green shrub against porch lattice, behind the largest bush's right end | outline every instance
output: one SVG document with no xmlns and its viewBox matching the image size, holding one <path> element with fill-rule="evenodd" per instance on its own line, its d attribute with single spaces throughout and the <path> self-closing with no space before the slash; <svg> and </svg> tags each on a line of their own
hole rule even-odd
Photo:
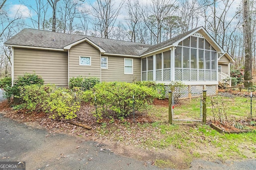
<svg viewBox="0 0 256 170">
<path fill-rule="evenodd" d="M 139 86 L 147 86 L 147 87 L 157 90 L 158 93 L 160 94 L 158 99 L 166 98 L 164 84 L 162 84 L 162 83 L 156 83 L 153 81 L 140 81 L 140 82 L 136 82 L 136 84 L 138 84 Z"/>
</svg>

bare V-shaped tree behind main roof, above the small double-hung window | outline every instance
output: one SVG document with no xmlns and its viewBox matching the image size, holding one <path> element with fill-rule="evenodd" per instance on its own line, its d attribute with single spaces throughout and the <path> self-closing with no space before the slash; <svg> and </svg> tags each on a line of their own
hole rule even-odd
<svg viewBox="0 0 256 170">
<path fill-rule="evenodd" d="M 101 37 L 109 38 L 120 10 L 124 4 L 124 0 L 116 4 L 114 0 L 96 0 L 92 5 L 92 16 L 95 18 L 94 25 L 101 33 Z"/>
</svg>

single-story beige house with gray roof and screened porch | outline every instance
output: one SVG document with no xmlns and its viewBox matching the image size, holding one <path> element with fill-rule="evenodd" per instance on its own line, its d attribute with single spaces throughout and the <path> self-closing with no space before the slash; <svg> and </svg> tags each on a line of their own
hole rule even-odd
<svg viewBox="0 0 256 170">
<path fill-rule="evenodd" d="M 156 45 L 25 28 L 4 44 L 12 47 L 12 84 L 36 72 L 57 86 L 96 76 L 101 82 L 182 81 L 188 91 L 215 94 L 218 72 L 228 76 L 234 61 L 204 27 Z"/>
</svg>

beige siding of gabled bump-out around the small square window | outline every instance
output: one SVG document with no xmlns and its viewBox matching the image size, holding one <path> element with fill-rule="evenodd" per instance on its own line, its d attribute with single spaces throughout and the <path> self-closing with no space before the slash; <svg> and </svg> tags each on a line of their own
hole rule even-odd
<svg viewBox="0 0 256 170">
<path fill-rule="evenodd" d="M 91 57 L 91 66 L 80 66 L 79 56 Z M 100 78 L 100 51 L 87 42 L 75 45 L 69 50 L 69 78 L 77 76 Z"/>
</svg>

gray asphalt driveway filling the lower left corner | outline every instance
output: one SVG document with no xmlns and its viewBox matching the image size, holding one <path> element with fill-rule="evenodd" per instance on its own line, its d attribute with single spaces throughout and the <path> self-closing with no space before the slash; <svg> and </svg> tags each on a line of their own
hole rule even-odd
<svg viewBox="0 0 256 170">
<path fill-rule="evenodd" d="M 0 161 L 25 161 L 27 170 L 160 169 L 151 166 L 150 161 L 119 156 L 103 146 L 95 141 L 28 127 L 0 113 Z"/>
</svg>

